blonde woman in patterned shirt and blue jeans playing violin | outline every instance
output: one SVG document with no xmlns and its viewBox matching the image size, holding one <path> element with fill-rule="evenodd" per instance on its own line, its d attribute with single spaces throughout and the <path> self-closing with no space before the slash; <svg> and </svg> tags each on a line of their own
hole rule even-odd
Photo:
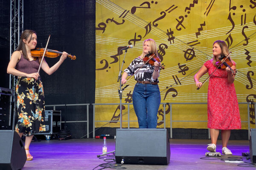
<svg viewBox="0 0 256 170">
<path fill-rule="evenodd" d="M 126 83 L 128 75 L 134 75 L 134 79 L 137 81 L 132 100 L 140 128 L 157 127 L 157 113 L 161 102 L 157 85 L 160 73 L 159 62 L 156 61 L 150 65 L 143 61 L 149 51 L 154 51 L 154 54 L 157 54 L 157 45 L 152 39 L 143 42 L 142 54 L 135 58 L 122 74 L 122 84 Z"/>
</svg>

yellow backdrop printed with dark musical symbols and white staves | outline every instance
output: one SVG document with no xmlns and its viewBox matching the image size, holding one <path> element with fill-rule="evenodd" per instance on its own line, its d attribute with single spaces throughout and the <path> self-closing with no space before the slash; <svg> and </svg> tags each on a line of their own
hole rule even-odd
<svg viewBox="0 0 256 170">
<path fill-rule="evenodd" d="M 165 69 L 161 70 L 161 102 L 207 102 L 208 82 L 195 90 L 194 75 L 212 58 L 212 43 L 224 40 L 239 71 L 235 77 L 239 102 L 256 100 L 256 0 L 96 0 L 96 92 L 95 103 L 119 103 L 119 68 L 122 71 L 140 56 L 143 41 L 152 38 Z M 119 51 L 127 45 L 133 48 Z M 120 64 L 121 63 L 121 64 Z M 208 77 L 204 75 L 201 81 Z M 122 96 L 131 103 L 135 85 L 132 77 Z M 154 103 L 152 103 L 153 105 Z M 128 105 L 123 105 L 123 127 L 128 123 Z M 242 121 L 247 105 L 239 104 Z M 250 127 L 255 113 L 250 105 Z M 119 105 L 96 105 L 95 120 L 119 120 Z M 207 105 L 172 105 L 174 121 L 207 121 Z M 130 127 L 138 127 L 130 105 Z M 163 120 L 160 105 L 158 121 Z M 96 122 L 96 127 L 119 127 L 119 122 Z M 163 127 L 158 122 L 157 127 Z M 166 127 L 170 127 L 170 105 L 166 106 Z M 207 128 L 207 122 L 173 122 L 172 127 Z M 242 129 L 247 129 L 242 122 Z"/>
</svg>

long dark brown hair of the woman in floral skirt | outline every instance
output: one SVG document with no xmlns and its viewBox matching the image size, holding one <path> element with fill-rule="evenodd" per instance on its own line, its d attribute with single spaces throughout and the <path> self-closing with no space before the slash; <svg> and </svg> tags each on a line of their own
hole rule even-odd
<svg viewBox="0 0 256 170">
<path fill-rule="evenodd" d="M 26 41 L 29 39 L 29 42 L 30 42 L 32 39 L 32 34 L 36 34 L 36 32 L 29 29 L 26 29 L 25 31 L 23 31 L 23 33 L 20 36 L 19 45 L 15 50 L 15 51 L 22 51 L 24 59 L 29 59 L 29 57 L 27 56 L 26 46 L 25 46 L 25 43 L 23 42 L 23 39 L 25 39 Z"/>
</svg>

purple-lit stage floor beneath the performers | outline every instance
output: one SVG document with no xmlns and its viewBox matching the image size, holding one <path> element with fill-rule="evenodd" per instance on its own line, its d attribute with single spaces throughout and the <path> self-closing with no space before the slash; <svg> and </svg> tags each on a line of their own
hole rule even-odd
<svg viewBox="0 0 256 170">
<path fill-rule="evenodd" d="M 205 157 L 210 140 L 169 139 L 171 158 L 168 165 L 124 164 L 127 170 L 256 170 L 256 167 L 240 167 L 238 163 L 225 163 L 221 159 L 230 156 Z M 99 164 L 106 163 L 97 155 L 102 153 L 103 139 L 70 139 L 66 141 L 42 140 L 32 142 L 30 153 L 32 161 L 26 161 L 22 170 L 93 170 Z M 115 150 L 115 140 L 107 139 L 108 152 Z M 249 152 L 249 141 L 230 141 L 228 148 L 232 157 L 242 158 L 242 152 Z M 217 152 L 221 152 L 221 141 L 217 143 Z M 217 159 L 215 159 L 217 158 Z M 243 159 L 250 162 L 250 160 Z M 247 165 L 242 163 L 242 165 Z M 97 167 L 96 170 L 100 169 Z"/>
</svg>

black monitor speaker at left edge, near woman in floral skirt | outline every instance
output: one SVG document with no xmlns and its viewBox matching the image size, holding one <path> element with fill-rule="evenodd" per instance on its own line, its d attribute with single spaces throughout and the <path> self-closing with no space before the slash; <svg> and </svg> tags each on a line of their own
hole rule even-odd
<svg viewBox="0 0 256 170">
<path fill-rule="evenodd" d="M 22 140 L 13 130 L 0 130 L 0 170 L 19 170 L 26 162 Z"/>
</svg>

